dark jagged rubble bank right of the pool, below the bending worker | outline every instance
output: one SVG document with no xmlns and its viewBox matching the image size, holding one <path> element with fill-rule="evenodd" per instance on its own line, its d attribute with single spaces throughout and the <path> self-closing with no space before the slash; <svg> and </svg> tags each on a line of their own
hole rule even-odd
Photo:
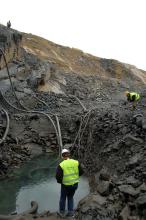
<svg viewBox="0 0 146 220">
<path fill-rule="evenodd" d="M 146 218 L 146 135 L 135 114 L 120 106 L 94 112 L 90 119 L 80 157 L 92 193 L 79 203 L 77 218 Z"/>
</svg>

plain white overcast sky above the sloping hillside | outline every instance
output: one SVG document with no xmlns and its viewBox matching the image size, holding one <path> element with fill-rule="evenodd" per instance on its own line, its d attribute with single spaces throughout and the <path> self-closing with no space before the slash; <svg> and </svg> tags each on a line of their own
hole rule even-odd
<svg viewBox="0 0 146 220">
<path fill-rule="evenodd" d="M 146 70 L 146 0 L 0 0 L 0 23 Z"/>
</svg>

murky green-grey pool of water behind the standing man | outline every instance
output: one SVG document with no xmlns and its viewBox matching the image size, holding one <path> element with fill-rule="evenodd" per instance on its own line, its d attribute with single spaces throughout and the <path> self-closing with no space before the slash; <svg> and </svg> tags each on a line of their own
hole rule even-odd
<svg viewBox="0 0 146 220">
<path fill-rule="evenodd" d="M 38 202 L 38 212 L 58 211 L 60 184 L 54 177 L 58 161 L 54 156 L 39 156 L 21 168 L 13 177 L 0 181 L 0 214 L 21 213 L 30 208 L 30 202 Z M 89 193 L 88 181 L 82 177 L 75 194 L 75 206 Z"/>
</svg>

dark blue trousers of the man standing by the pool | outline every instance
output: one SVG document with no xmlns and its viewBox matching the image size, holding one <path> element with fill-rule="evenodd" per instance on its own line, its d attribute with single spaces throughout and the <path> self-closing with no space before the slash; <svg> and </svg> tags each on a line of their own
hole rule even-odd
<svg viewBox="0 0 146 220">
<path fill-rule="evenodd" d="M 63 184 L 61 185 L 61 195 L 60 195 L 60 202 L 59 202 L 60 212 L 65 211 L 66 198 L 68 202 L 68 212 L 73 211 L 73 208 L 74 208 L 73 196 L 77 188 L 78 188 L 78 183 L 75 183 L 74 185 L 71 185 L 71 186 L 65 186 Z"/>
</svg>

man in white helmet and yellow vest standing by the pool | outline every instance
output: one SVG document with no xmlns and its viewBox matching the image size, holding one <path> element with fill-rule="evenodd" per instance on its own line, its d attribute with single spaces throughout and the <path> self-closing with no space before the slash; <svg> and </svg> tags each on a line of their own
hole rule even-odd
<svg viewBox="0 0 146 220">
<path fill-rule="evenodd" d="M 62 150 L 63 161 L 56 170 L 56 180 L 61 184 L 61 195 L 59 201 L 59 211 L 65 214 L 66 199 L 68 200 L 67 216 L 74 214 L 74 194 L 78 188 L 79 177 L 83 174 L 83 169 L 77 160 L 70 159 L 68 149 Z"/>
</svg>

